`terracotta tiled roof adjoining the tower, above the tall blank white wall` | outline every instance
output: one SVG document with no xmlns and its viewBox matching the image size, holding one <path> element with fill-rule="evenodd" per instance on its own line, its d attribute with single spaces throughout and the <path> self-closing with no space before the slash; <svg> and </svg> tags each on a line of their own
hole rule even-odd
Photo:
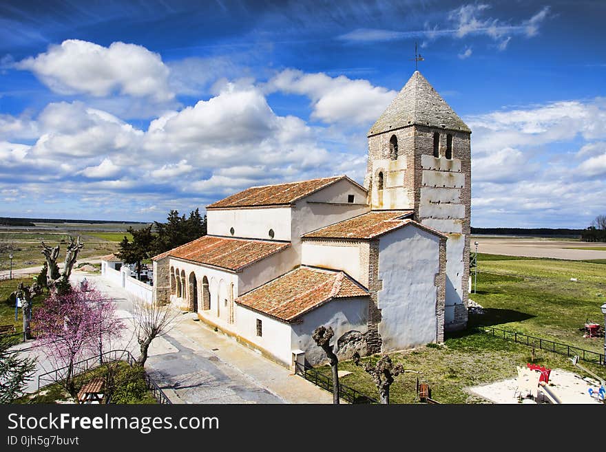
<svg viewBox="0 0 606 452">
<path fill-rule="evenodd" d="M 412 211 L 370 211 L 325 228 L 311 231 L 304 238 L 372 239 L 412 221 Z"/>
</svg>

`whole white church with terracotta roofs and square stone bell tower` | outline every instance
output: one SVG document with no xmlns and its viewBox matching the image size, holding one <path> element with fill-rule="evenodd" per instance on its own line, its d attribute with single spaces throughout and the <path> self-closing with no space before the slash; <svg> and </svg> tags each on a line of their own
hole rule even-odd
<svg viewBox="0 0 606 452">
<path fill-rule="evenodd" d="M 470 134 L 420 72 L 346 175 L 253 186 L 207 206 L 208 235 L 153 258 L 154 302 L 286 366 L 439 343 L 466 327 Z"/>
</svg>

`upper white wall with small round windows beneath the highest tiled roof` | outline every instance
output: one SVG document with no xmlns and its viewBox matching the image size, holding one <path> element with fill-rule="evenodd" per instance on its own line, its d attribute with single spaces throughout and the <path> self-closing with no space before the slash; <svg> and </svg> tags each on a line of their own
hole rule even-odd
<svg viewBox="0 0 606 452">
<path fill-rule="evenodd" d="M 209 235 L 245 237 L 270 240 L 272 229 L 274 240 L 291 239 L 291 207 L 274 208 L 229 208 L 207 210 Z"/>
</svg>

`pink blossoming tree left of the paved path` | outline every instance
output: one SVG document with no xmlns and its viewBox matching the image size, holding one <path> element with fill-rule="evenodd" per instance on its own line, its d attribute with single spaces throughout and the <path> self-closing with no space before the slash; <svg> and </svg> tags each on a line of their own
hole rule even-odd
<svg viewBox="0 0 606 452">
<path fill-rule="evenodd" d="M 110 299 L 85 286 L 67 294 L 54 293 L 34 312 L 34 345 L 43 350 L 56 369 L 65 367 L 64 385 L 75 395 L 74 363 L 103 352 L 103 343 L 120 336 L 123 322 Z"/>
</svg>

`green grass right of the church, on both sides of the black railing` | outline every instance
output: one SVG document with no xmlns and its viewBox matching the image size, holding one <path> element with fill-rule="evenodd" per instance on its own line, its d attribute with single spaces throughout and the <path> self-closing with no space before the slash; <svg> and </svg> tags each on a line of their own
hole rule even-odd
<svg viewBox="0 0 606 452">
<path fill-rule="evenodd" d="M 470 328 L 447 335 L 443 347 L 419 347 L 390 355 L 406 369 L 421 372 L 419 379 L 429 383 L 432 398 L 442 403 L 484 402 L 466 391 L 466 387 L 514 378 L 516 366 L 530 362 L 530 347 L 474 328 L 481 325 L 603 352 L 604 339 L 583 338 L 582 331 L 587 319 L 603 323 L 600 311 L 600 305 L 606 302 L 603 263 L 499 255 L 479 255 L 478 261 L 477 293 L 470 294 L 470 299 L 482 305 L 485 314 L 470 314 Z M 582 373 L 565 356 L 544 350 L 536 349 L 534 362 Z M 603 366 L 589 363 L 583 366 L 606 378 Z M 318 369 L 330 375 L 330 367 Z M 353 372 L 342 378 L 341 383 L 378 398 L 373 381 L 362 368 L 345 361 L 339 363 L 339 369 Z M 417 374 L 398 376 L 391 387 L 391 402 L 415 402 L 416 380 Z"/>
</svg>

